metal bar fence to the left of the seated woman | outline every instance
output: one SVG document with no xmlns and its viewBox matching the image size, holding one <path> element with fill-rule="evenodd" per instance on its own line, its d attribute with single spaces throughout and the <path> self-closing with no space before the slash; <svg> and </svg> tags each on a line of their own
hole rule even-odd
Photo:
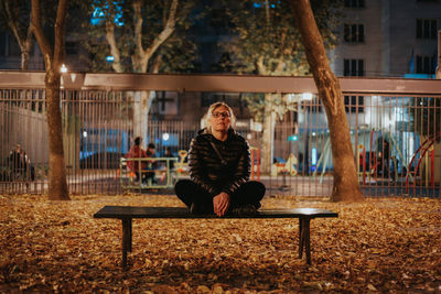
<svg viewBox="0 0 441 294">
<path fill-rule="evenodd" d="M 0 193 L 47 189 L 49 142 L 43 90 L 0 89 Z M 133 140 L 132 101 L 125 91 L 63 90 L 67 183 L 73 194 L 121 193 L 120 157 Z M 150 121 L 147 142 L 157 154 L 189 149 L 200 123 Z M 164 135 L 166 134 L 166 138 Z M 20 145 L 22 150 L 17 151 Z"/>
</svg>

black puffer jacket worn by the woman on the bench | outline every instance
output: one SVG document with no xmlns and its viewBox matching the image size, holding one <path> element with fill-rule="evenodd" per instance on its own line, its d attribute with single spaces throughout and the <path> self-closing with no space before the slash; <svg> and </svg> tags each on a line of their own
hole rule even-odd
<svg viewBox="0 0 441 294">
<path fill-rule="evenodd" d="M 213 142 L 224 159 L 222 163 Z M 250 153 L 248 142 L 233 129 L 228 138 L 219 141 L 206 129 L 192 140 L 189 152 L 190 176 L 209 194 L 226 192 L 232 195 L 241 184 L 249 179 Z"/>
</svg>

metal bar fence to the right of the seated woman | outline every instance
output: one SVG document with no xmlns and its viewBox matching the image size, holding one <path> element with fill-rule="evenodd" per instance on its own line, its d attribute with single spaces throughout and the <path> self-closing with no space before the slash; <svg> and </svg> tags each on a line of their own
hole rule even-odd
<svg viewBox="0 0 441 294">
<path fill-rule="evenodd" d="M 345 105 L 364 195 L 440 197 L 439 96 L 353 95 L 345 96 Z M 324 108 L 315 99 L 306 100 L 297 113 L 297 126 L 276 128 L 276 145 L 281 146 L 276 177 L 279 189 L 293 195 L 330 195 L 333 162 Z M 282 168 L 290 155 L 295 168 L 287 173 Z"/>
</svg>

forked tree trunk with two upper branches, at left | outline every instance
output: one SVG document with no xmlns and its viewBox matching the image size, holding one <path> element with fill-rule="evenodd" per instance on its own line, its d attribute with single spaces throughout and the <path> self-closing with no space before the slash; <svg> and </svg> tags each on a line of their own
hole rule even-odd
<svg viewBox="0 0 441 294">
<path fill-rule="evenodd" d="M 40 1 L 32 0 L 31 26 L 45 65 L 45 87 L 49 128 L 49 192 L 50 200 L 69 200 L 64 163 L 62 113 L 60 109 L 60 67 L 64 51 L 64 21 L 67 9 L 66 0 L 60 0 L 55 21 L 55 45 L 52 48 L 41 25 Z"/>
</svg>

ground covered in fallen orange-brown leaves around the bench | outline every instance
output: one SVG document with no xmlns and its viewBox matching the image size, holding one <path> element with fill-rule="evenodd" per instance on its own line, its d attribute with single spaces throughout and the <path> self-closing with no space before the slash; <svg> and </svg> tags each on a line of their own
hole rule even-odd
<svg viewBox="0 0 441 294">
<path fill-rule="evenodd" d="M 298 220 L 133 220 L 130 268 L 121 224 L 104 205 L 182 206 L 173 196 L 0 196 L 0 292 L 441 293 L 441 200 L 357 204 L 266 198 L 265 208 L 323 207 L 311 222 L 312 265 L 298 259 Z"/>
</svg>

